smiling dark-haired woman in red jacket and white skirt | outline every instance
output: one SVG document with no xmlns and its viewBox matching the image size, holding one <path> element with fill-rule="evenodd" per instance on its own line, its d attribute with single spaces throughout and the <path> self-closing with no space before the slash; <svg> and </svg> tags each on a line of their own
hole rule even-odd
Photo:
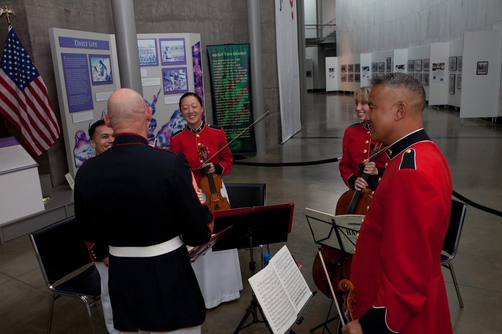
<svg viewBox="0 0 502 334">
<path fill-rule="evenodd" d="M 207 147 L 208 158 L 218 152 L 227 144 L 223 128 L 204 124 L 202 100 L 195 93 L 185 93 L 180 98 L 180 112 L 187 126 L 171 136 L 171 150 L 182 152 L 192 170 L 199 166 L 208 166 L 207 173 L 219 176 L 230 173 L 233 165 L 233 156 L 230 148 L 223 150 L 211 162 L 204 163 L 199 152 L 201 147 Z M 199 145 L 200 144 L 200 145 Z M 207 168 L 207 167 L 206 167 Z M 202 173 L 195 175 L 197 185 L 200 187 Z M 227 197 L 226 191 L 221 189 L 222 196 Z M 204 197 L 204 194 L 203 194 Z M 205 198 L 203 198 L 205 201 Z M 236 249 L 213 252 L 208 251 L 192 264 L 199 282 L 206 308 L 215 307 L 221 302 L 237 299 L 242 289 L 239 258 Z"/>
</svg>

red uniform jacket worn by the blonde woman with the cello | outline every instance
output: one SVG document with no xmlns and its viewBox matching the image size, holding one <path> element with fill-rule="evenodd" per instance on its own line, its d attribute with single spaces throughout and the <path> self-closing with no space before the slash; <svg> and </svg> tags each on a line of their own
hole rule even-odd
<svg viewBox="0 0 502 334">
<path fill-rule="evenodd" d="M 345 129 L 345 134 L 343 135 L 343 155 L 338 164 L 340 170 L 340 175 L 343 182 L 350 189 L 354 189 L 355 180 L 361 176 L 358 172 L 359 164 L 371 156 L 376 142 L 372 141 L 369 134 L 369 127 L 366 122 L 360 122 L 353 124 Z M 371 146 L 371 147 L 370 147 Z M 379 175 L 369 175 L 368 185 L 371 190 L 375 190 L 378 186 L 378 179 L 382 176 L 385 171 L 385 163 L 389 161 L 389 158 L 385 154 L 374 159 L 376 168 L 379 170 Z"/>
</svg>

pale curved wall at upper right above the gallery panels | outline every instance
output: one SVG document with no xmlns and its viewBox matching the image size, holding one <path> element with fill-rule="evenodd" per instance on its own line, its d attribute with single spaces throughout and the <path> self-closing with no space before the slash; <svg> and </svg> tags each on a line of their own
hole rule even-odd
<svg viewBox="0 0 502 334">
<path fill-rule="evenodd" d="M 460 41 L 502 29 L 502 1 L 338 0 L 337 56 Z"/>
</svg>

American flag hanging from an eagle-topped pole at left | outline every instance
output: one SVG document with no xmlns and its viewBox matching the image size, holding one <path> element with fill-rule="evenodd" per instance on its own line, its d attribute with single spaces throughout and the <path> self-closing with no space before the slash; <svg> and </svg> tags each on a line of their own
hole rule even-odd
<svg viewBox="0 0 502 334">
<path fill-rule="evenodd" d="M 25 48 L 9 27 L 0 71 L 0 111 L 39 156 L 59 137 L 47 88 Z"/>
</svg>

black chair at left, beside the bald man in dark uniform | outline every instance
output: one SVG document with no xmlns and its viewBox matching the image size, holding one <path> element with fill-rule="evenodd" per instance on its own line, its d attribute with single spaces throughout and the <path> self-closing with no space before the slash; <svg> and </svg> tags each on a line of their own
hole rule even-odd
<svg viewBox="0 0 502 334">
<path fill-rule="evenodd" d="M 90 307 L 99 301 L 101 293 L 101 281 L 96 266 L 92 264 L 77 275 L 54 285 L 75 270 L 92 263 L 89 252 L 78 235 L 75 216 L 30 233 L 30 239 L 45 282 L 53 291 L 47 333 L 51 332 L 54 301 L 61 296 L 77 297 L 85 303 L 92 332 L 96 333 L 90 311 Z"/>
</svg>

